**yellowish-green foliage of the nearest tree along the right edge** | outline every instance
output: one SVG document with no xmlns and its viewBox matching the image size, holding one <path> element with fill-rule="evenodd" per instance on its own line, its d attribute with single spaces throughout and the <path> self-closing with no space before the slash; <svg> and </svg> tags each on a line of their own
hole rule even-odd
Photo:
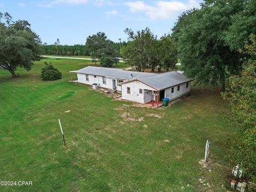
<svg viewBox="0 0 256 192">
<path fill-rule="evenodd" d="M 256 35 L 244 46 L 248 57 L 240 75 L 230 77 L 230 88 L 222 93 L 231 107 L 230 123 L 236 127 L 231 159 L 242 166 L 243 173 L 256 182 Z"/>
</svg>

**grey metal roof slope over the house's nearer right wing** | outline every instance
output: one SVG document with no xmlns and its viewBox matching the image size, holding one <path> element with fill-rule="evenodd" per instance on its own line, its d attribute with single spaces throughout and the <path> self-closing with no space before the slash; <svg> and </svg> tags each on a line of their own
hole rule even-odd
<svg viewBox="0 0 256 192">
<path fill-rule="evenodd" d="M 176 71 L 171 71 L 150 77 L 139 78 L 138 80 L 142 83 L 154 87 L 157 90 L 163 90 L 168 87 L 193 81 L 194 79 L 187 78 L 185 75 L 180 74 Z"/>
</svg>

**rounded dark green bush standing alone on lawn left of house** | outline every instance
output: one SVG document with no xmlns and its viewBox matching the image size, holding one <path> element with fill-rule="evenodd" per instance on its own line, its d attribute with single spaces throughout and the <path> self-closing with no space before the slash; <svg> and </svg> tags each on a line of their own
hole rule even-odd
<svg viewBox="0 0 256 192">
<path fill-rule="evenodd" d="M 45 67 L 41 71 L 41 78 L 43 81 L 53 81 L 61 79 L 62 74 L 57 68 L 54 68 L 52 64 L 45 62 Z"/>
</svg>

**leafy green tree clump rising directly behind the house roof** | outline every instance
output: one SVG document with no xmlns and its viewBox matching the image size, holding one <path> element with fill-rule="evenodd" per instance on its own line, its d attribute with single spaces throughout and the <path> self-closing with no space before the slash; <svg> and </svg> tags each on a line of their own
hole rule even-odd
<svg viewBox="0 0 256 192">
<path fill-rule="evenodd" d="M 164 68 L 166 71 L 177 63 L 177 49 L 170 35 L 157 39 L 149 28 L 138 30 L 134 33 L 131 29 L 125 29 L 128 42 L 122 49 L 122 57 L 138 71 L 151 68 L 158 71 Z"/>
</svg>

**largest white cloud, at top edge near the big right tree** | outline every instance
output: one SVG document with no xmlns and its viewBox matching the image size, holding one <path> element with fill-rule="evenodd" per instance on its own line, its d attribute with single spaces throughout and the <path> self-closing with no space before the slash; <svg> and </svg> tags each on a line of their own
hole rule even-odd
<svg viewBox="0 0 256 192">
<path fill-rule="evenodd" d="M 143 1 L 125 2 L 124 5 L 130 7 L 130 11 L 143 12 L 151 20 L 167 20 L 177 18 L 181 12 L 199 7 L 196 0 L 189 0 L 187 3 L 178 1 L 158 1 L 154 6 L 148 5 Z"/>
</svg>

